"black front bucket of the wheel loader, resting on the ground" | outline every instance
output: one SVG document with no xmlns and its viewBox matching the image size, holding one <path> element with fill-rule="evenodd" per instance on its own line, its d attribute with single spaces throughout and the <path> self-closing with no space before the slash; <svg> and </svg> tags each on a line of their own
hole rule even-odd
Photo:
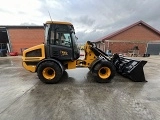
<svg viewBox="0 0 160 120">
<path fill-rule="evenodd" d="M 143 66 L 147 63 L 147 61 L 127 59 L 119 57 L 118 54 L 113 56 L 112 61 L 117 72 L 121 75 L 128 77 L 134 82 L 146 82 Z"/>
</svg>

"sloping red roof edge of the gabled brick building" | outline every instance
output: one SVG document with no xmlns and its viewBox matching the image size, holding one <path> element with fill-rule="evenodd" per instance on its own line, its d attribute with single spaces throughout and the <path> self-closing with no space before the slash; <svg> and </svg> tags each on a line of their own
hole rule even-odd
<svg viewBox="0 0 160 120">
<path fill-rule="evenodd" d="M 139 25 L 139 24 L 142 24 L 142 25 L 148 27 L 149 29 L 151 29 L 152 31 L 154 31 L 155 33 L 157 33 L 157 34 L 160 35 L 160 32 L 159 32 L 158 30 L 156 30 L 156 29 L 153 28 L 152 26 L 150 26 L 150 25 L 148 25 L 147 23 L 145 23 L 145 22 L 143 22 L 142 20 L 140 20 L 140 21 L 138 21 L 138 22 L 136 22 L 136 23 L 134 23 L 134 24 L 132 24 L 132 25 L 129 25 L 129 26 L 127 26 L 127 27 L 125 27 L 125 28 L 122 28 L 122 29 L 120 29 L 120 30 L 118 30 L 118 31 L 116 31 L 116 32 L 113 32 L 113 33 L 111 33 L 111 34 L 108 34 L 108 35 L 106 35 L 106 36 L 104 36 L 104 37 L 102 37 L 102 38 L 99 38 L 99 39 L 96 40 L 96 42 L 109 40 L 110 38 L 112 38 L 112 37 L 114 37 L 114 36 L 116 36 L 116 35 L 124 32 L 124 31 L 126 31 L 126 30 L 128 30 L 128 29 L 131 29 L 132 27 L 134 27 L 134 26 L 136 26 L 136 25 Z"/>
</svg>

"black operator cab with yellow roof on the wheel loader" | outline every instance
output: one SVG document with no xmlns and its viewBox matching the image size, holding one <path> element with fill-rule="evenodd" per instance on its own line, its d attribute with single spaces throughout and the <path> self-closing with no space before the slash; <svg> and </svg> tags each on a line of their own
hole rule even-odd
<svg viewBox="0 0 160 120">
<path fill-rule="evenodd" d="M 80 56 L 74 27 L 69 22 L 46 22 L 45 45 L 47 58 L 68 61 Z"/>
</svg>

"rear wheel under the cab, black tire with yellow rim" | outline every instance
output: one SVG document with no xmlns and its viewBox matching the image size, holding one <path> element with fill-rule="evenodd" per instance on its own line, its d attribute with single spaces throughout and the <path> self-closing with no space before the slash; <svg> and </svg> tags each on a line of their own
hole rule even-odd
<svg viewBox="0 0 160 120">
<path fill-rule="evenodd" d="M 39 65 L 37 75 L 42 82 L 55 84 L 59 82 L 62 76 L 62 70 L 55 62 L 46 61 Z"/>
</svg>

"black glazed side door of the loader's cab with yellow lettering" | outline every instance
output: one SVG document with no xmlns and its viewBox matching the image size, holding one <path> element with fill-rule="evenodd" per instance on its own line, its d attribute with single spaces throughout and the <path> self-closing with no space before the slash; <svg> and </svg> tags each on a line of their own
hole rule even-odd
<svg viewBox="0 0 160 120">
<path fill-rule="evenodd" d="M 63 61 L 72 60 L 71 34 L 69 32 L 52 32 L 49 51 L 51 58 L 56 58 Z"/>
</svg>

